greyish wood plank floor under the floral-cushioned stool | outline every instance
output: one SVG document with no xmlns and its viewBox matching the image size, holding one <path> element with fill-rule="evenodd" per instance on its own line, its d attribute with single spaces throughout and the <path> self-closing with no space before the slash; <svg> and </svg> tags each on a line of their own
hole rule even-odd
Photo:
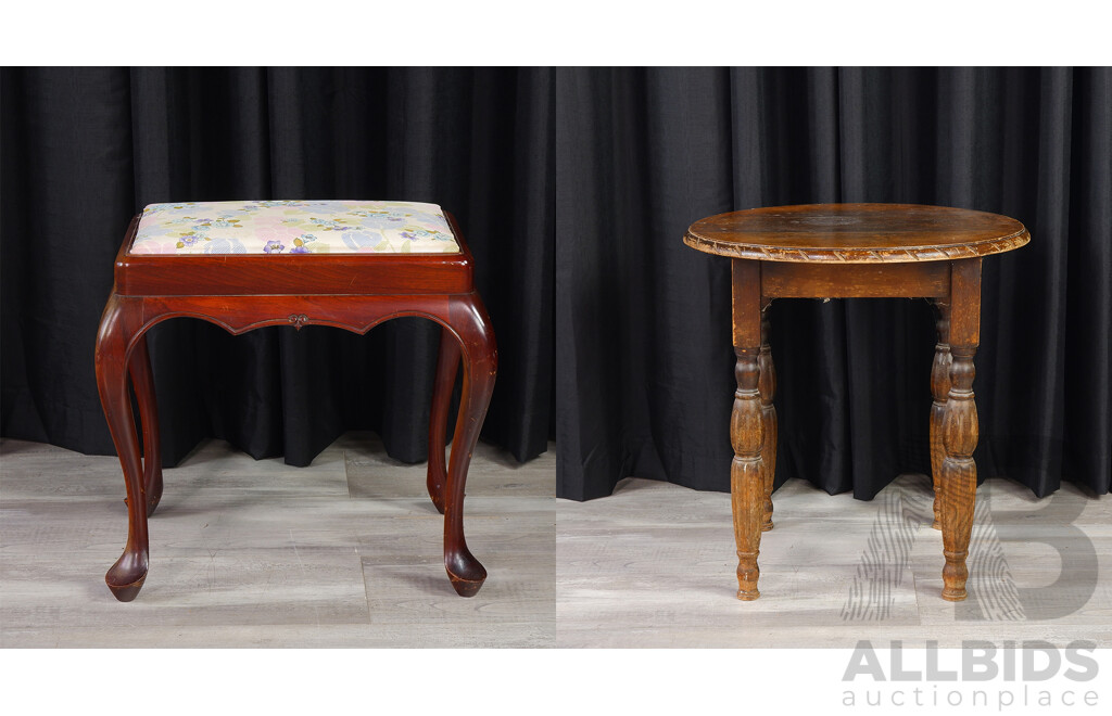
<svg viewBox="0 0 1112 716">
<path fill-rule="evenodd" d="M 119 461 L 0 441 L 0 646 L 552 646 L 555 462 L 476 450 L 467 542 L 489 576 L 465 599 L 424 464 L 369 433 L 307 468 L 210 441 L 165 472 L 147 583 L 120 604 Z"/>
</svg>

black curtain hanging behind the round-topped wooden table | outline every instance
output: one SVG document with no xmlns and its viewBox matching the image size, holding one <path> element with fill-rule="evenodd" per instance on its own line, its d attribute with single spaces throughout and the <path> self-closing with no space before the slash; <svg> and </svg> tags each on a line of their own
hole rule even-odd
<svg viewBox="0 0 1112 716">
<path fill-rule="evenodd" d="M 729 487 L 729 262 L 693 221 L 761 205 L 943 204 L 1014 216 L 984 262 L 979 477 L 1112 480 L 1112 71 L 556 72 L 559 495 L 627 475 Z M 776 301 L 777 483 L 871 498 L 930 472 L 925 301 Z"/>
</svg>

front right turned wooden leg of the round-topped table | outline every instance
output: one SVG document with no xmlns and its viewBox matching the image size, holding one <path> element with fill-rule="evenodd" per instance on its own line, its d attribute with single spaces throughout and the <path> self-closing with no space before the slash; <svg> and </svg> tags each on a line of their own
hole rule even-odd
<svg viewBox="0 0 1112 716">
<path fill-rule="evenodd" d="M 942 461 L 942 598 L 965 598 L 973 503 L 976 498 L 976 403 L 973 400 L 973 355 L 980 342 L 981 260 L 955 261 L 951 279 L 950 393 L 942 420 L 945 457 Z"/>
</svg>

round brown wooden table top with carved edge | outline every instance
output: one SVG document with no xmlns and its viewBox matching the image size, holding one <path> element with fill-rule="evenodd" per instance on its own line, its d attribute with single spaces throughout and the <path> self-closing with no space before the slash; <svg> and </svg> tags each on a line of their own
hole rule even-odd
<svg viewBox="0 0 1112 716">
<path fill-rule="evenodd" d="M 1019 221 L 921 204 L 765 206 L 696 221 L 693 249 L 737 259 L 800 263 L 909 263 L 974 259 L 1031 241 Z"/>
</svg>

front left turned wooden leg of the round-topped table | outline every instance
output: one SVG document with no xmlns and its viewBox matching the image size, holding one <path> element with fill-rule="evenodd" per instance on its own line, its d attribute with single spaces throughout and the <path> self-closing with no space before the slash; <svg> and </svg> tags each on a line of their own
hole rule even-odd
<svg viewBox="0 0 1112 716">
<path fill-rule="evenodd" d="M 734 511 L 734 538 L 737 542 L 737 598 L 761 596 L 757 579 L 761 569 L 761 525 L 764 522 L 765 467 L 764 413 L 761 401 L 761 274 L 753 261 L 733 262 L 734 410 L 729 421 L 729 441 L 734 460 L 729 467 L 731 504 Z"/>
</svg>

